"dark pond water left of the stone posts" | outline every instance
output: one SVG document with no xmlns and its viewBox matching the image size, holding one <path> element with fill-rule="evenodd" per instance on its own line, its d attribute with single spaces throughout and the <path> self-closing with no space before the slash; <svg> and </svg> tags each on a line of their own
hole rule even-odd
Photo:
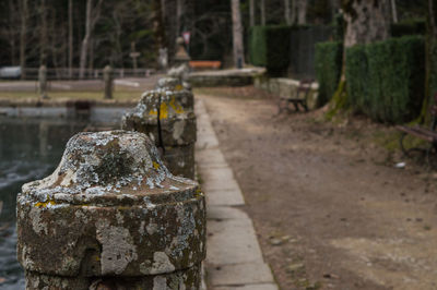
<svg viewBox="0 0 437 290">
<path fill-rule="evenodd" d="M 116 128 L 108 121 L 0 117 L 0 289 L 24 289 L 15 250 L 15 200 L 23 183 L 50 174 L 73 134 Z"/>
</svg>

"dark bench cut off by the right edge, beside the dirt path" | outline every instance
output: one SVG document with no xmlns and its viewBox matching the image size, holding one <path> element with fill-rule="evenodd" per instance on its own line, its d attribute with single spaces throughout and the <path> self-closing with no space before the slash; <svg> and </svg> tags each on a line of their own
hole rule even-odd
<svg viewBox="0 0 437 290">
<path fill-rule="evenodd" d="M 434 105 L 430 108 L 432 123 L 430 128 L 423 126 L 408 126 L 408 125 L 397 125 L 397 129 L 402 132 L 399 140 L 402 153 L 405 156 L 411 157 L 412 152 L 424 152 L 426 154 L 426 161 L 430 167 L 437 166 L 437 94 L 434 95 Z M 427 148 L 413 147 L 406 149 L 404 146 L 404 138 L 406 135 L 412 135 L 414 137 L 421 138 L 427 143 L 429 146 Z"/>
</svg>

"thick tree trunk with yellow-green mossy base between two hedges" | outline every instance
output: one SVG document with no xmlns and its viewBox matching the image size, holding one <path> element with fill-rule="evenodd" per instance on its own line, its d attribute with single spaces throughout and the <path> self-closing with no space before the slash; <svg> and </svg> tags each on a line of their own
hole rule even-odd
<svg viewBox="0 0 437 290">
<path fill-rule="evenodd" d="M 343 65 L 338 89 L 330 101 L 329 116 L 346 108 L 349 104 L 345 85 L 346 49 L 354 45 L 385 40 L 390 35 L 389 0 L 343 0 L 342 9 L 346 23 Z"/>
</svg>

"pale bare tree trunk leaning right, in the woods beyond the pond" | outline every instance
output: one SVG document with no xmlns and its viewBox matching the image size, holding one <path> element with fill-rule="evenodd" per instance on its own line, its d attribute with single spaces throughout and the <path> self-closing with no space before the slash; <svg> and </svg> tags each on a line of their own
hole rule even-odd
<svg viewBox="0 0 437 290">
<path fill-rule="evenodd" d="M 81 58 L 79 65 L 79 77 L 83 78 L 86 68 L 86 55 L 90 46 L 90 38 L 93 33 L 94 26 L 101 16 L 101 7 L 103 0 L 98 0 L 96 7 L 93 9 L 93 0 L 86 0 L 86 20 L 85 20 L 85 36 L 82 40 Z"/>
</svg>

